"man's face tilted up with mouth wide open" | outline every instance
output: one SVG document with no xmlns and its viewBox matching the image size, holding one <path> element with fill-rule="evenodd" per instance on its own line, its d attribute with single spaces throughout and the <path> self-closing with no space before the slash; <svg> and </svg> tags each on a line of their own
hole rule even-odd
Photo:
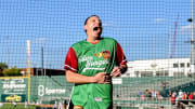
<svg viewBox="0 0 195 109">
<path fill-rule="evenodd" d="M 102 23 L 101 19 L 96 16 L 92 16 L 88 19 L 84 25 L 84 30 L 90 37 L 100 37 L 102 33 Z"/>
</svg>

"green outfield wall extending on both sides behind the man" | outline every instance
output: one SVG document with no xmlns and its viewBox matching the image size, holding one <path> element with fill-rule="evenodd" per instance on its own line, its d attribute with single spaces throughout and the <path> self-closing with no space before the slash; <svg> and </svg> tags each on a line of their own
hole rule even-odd
<svg viewBox="0 0 195 109">
<path fill-rule="evenodd" d="M 41 104 L 54 104 L 54 100 L 68 99 L 73 88 L 73 84 L 68 83 L 65 79 L 65 76 L 42 76 L 42 77 L 31 77 L 30 85 L 28 88 L 28 79 L 29 78 L 15 78 L 15 79 L 0 79 L 0 100 L 2 103 L 8 99 L 16 99 L 20 103 L 24 103 L 25 99 L 30 99 L 32 101 L 39 101 Z M 187 78 L 188 79 L 188 78 Z M 171 78 L 171 77 L 145 77 L 145 78 L 116 78 L 113 79 L 114 84 L 114 103 L 116 99 L 128 98 L 128 103 L 133 100 L 136 97 L 139 91 L 147 90 L 160 90 L 161 81 L 166 80 L 167 82 L 174 83 L 174 81 L 183 80 L 183 78 Z M 187 83 L 190 85 L 187 85 Z M 173 88 L 170 91 L 179 91 L 183 88 L 190 88 L 194 86 L 194 79 L 188 82 L 182 82 L 176 86 L 182 86 Z M 168 85 L 169 85 L 168 84 Z M 184 85 L 185 84 L 185 85 Z M 170 84 L 172 85 L 172 84 Z M 29 90 L 29 91 L 28 91 Z M 190 88 L 192 90 L 192 88 Z M 183 90 L 184 91 L 184 90 Z M 168 94 L 168 91 L 166 91 Z M 192 92 L 192 91 L 191 91 Z M 17 96 L 12 96 L 17 95 Z M 21 99 L 20 99 L 21 98 Z M 129 99 L 131 98 L 131 99 Z M 133 100 L 134 101 L 134 100 Z M 135 103 L 133 103 L 135 104 Z M 138 103 L 139 104 L 139 103 Z"/>
</svg>

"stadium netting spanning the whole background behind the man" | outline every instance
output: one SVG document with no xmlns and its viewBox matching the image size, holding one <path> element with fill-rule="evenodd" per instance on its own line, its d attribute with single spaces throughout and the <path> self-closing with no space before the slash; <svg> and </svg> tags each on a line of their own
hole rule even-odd
<svg viewBox="0 0 195 109">
<path fill-rule="evenodd" d="M 193 0 L 1 0 L 0 103 L 67 105 L 74 84 L 64 60 L 87 38 L 88 16 L 116 39 L 128 70 L 113 79 L 117 109 L 166 109 L 195 91 Z M 181 98 L 182 99 L 182 98 Z M 186 107 L 187 105 L 183 105 Z"/>
</svg>

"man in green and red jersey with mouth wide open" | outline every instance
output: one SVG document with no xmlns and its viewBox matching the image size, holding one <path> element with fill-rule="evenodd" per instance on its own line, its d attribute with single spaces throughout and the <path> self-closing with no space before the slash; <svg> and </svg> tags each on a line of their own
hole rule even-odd
<svg viewBox="0 0 195 109">
<path fill-rule="evenodd" d="M 92 15 L 84 22 L 87 39 L 69 49 L 64 68 L 67 82 L 75 83 L 74 109 L 113 109 L 112 77 L 127 70 L 121 46 L 112 38 L 101 38 L 102 23 Z"/>
</svg>

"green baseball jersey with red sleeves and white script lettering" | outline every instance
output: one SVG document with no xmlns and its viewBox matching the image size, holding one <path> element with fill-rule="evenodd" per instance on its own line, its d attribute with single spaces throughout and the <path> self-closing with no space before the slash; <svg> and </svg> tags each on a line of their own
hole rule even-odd
<svg viewBox="0 0 195 109">
<path fill-rule="evenodd" d="M 117 49 L 118 45 L 110 38 L 103 38 L 96 44 L 87 40 L 75 43 L 66 56 L 65 69 L 88 77 L 99 72 L 109 73 L 116 65 L 126 63 L 123 52 L 120 46 Z M 107 109 L 112 105 L 112 84 L 75 84 L 72 101 L 84 109 Z"/>
</svg>

